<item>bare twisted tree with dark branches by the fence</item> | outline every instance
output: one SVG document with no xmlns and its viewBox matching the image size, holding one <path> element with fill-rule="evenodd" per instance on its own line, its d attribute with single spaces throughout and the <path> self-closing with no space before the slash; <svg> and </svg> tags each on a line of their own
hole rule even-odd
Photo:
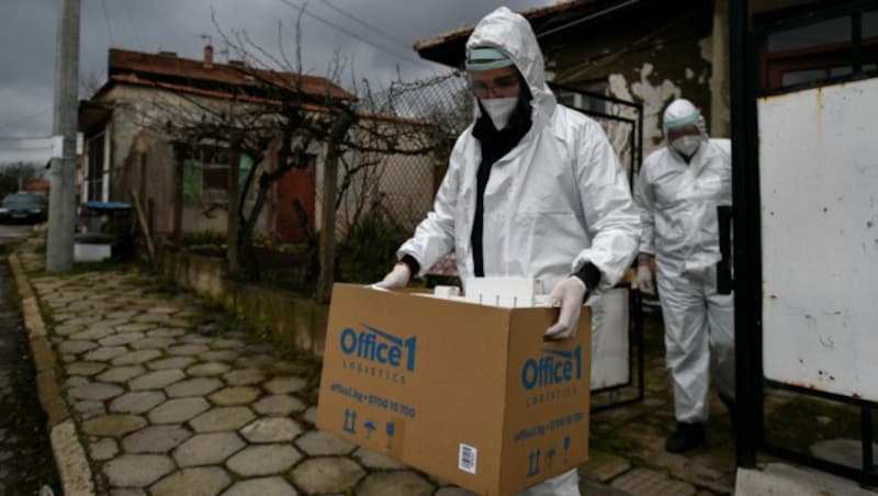
<svg viewBox="0 0 878 496">
<path fill-rule="evenodd" d="M 443 137 L 442 126 L 413 119 L 397 108 L 395 101 L 407 88 L 402 82 L 393 83 L 381 94 L 372 92 L 368 81 L 353 82 L 350 91 L 341 90 L 338 81 L 346 68 L 341 56 L 330 64 L 326 78 L 335 84 L 324 84 L 320 91 L 307 87 L 312 81 L 302 75 L 299 29 L 292 57 L 283 48 L 280 24 L 280 56 L 254 43 L 246 32 L 216 29 L 241 60 L 235 68 L 248 83 L 216 88 L 215 94 L 222 94 L 222 99 L 179 93 L 156 99 L 148 121 L 183 149 L 203 143 L 228 148 L 228 156 L 233 157 L 229 173 L 235 174 L 230 180 L 237 177 L 236 157 L 247 154 L 252 158 L 255 166 L 237 196 L 228 201 L 229 215 L 237 224 L 237 229 L 229 229 L 234 238 L 228 239 L 228 246 L 236 248 L 229 252 L 229 268 L 240 267 L 240 277 L 248 281 L 261 278 L 254 232 L 269 191 L 290 170 L 306 167 L 313 150 L 323 150 L 324 207 L 316 297 L 326 302 L 335 275 L 335 215 L 346 203 L 345 196 L 354 190 L 358 193 L 352 202 L 358 204 L 356 222 L 375 202 L 374 178 L 380 176 L 382 157 L 423 156 L 447 146 L 449 140 Z M 274 155 L 272 161 L 277 165 L 271 170 L 264 167 L 269 154 Z M 260 164 L 262 167 L 257 167 Z"/>
</svg>

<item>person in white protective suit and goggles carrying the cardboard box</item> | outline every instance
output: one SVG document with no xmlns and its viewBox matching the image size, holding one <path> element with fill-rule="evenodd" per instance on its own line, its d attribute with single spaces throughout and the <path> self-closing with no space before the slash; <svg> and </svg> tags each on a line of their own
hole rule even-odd
<svg viewBox="0 0 878 496">
<path fill-rule="evenodd" d="M 527 277 L 560 306 L 547 339 L 574 336 L 589 295 L 633 262 L 640 218 L 600 126 L 559 106 L 528 21 L 507 8 L 466 42 L 475 122 L 458 138 L 434 210 L 378 283 L 401 288 L 454 250 L 461 280 Z M 578 495 L 570 471 L 522 493 Z"/>
</svg>

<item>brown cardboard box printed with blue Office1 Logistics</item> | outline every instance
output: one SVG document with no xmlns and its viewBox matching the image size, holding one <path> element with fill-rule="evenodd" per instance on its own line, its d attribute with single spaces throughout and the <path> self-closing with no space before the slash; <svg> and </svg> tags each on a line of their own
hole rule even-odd
<svg viewBox="0 0 878 496">
<path fill-rule="evenodd" d="M 511 495 L 588 456 L 590 312 L 504 308 L 336 284 L 317 427 L 435 477 Z"/>
</svg>

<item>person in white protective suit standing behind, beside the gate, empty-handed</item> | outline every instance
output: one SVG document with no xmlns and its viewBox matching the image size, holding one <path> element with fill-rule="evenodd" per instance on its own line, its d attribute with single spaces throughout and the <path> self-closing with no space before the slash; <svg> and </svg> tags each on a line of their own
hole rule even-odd
<svg viewBox="0 0 878 496">
<path fill-rule="evenodd" d="M 672 102 L 664 129 L 668 146 L 646 157 L 634 188 L 638 286 L 655 293 L 654 259 L 677 419 L 665 449 L 680 453 L 705 441 L 711 371 L 734 421 L 734 301 L 717 293 L 717 206 L 732 204 L 732 169 L 730 142 L 708 137 L 691 102 Z"/>
</svg>

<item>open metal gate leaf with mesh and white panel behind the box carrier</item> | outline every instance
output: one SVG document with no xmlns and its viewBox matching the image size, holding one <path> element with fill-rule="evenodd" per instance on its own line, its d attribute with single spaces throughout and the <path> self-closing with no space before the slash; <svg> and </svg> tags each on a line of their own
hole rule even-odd
<svg viewBox="0 0 878 496">
<path fill-rule="evenodd" d="M 551 82 L 549 86 L 559 102 L 600 124 L 619 156 L 629 184 L 633 185 L 633 178 L 643 161 L 643 106 L 573 87 Z M 632 290 L 630 282 L 623 281 L 608 292 L 603 302 L 603 314 L 595 319 L 606 328 L 598 335 L 597 349 L 601 353 L 592 358 L 596 361 L 593 374 L 598 375 L 592 381 L 592 412 L 640 402 L 644 394 L 641 294 Z M 620 318 L 620 315 L 627 318 Z M 624 360 L 612 361 L 611 357 L 618 357 L 614 351 L 619 351 L 620 346 L 627 351 Z M 604 363 L 603 357 L 610 359 Z"/>
</svg>

